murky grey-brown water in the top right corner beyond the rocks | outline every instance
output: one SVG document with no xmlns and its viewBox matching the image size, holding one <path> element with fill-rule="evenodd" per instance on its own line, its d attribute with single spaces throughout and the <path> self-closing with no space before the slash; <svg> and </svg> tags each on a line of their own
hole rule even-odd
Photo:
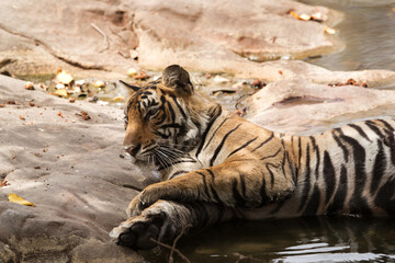
<svg viewBox="0 0 395 263">
<path fill-rule="evenodd" d="M 345 13 L 336 26 L 346 48 L 306 61 L 330 70 L 395 70 L 394 0 L 300 0 Z"/>
</svg>

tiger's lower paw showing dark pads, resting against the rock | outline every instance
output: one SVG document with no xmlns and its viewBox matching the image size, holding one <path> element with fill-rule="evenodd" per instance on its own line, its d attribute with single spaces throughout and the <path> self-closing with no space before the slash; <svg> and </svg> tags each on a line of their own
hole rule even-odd
<svg viewBox="0 0 395 263">
<path fill-rule="evenodd" d="M 165 226 L 166 214 L 138 216 L 129 218 L 110 232 L 116 244 L 134 250 L 149 250 L 157 245 L 151 239 L 158 240 Z"/>
</svg>

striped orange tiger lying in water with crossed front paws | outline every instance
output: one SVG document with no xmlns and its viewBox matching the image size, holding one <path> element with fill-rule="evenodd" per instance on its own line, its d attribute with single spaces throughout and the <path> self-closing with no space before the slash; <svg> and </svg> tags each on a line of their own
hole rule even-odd
<svg viewBox="0 0 395 263">
<path fill-rule="evenodd" d="M 268 130 L 201 94 L 167 67 L 126 101 L 123 148 L 156 171 L 110 237 L 148 250 L 215 224 L 312 215 L 395 216 L 395 121 L 312 135 Z M 187 229 L 187 230 L 185 230 Z"/>
</svg>

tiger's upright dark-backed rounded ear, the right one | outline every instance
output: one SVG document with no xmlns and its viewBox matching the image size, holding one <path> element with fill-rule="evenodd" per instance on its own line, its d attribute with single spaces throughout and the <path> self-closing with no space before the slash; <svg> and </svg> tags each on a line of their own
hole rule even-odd
<svg viewBox="0 0 395 263">
<path fill-rule="evenodd" d="M 179 65 L 171 65 L 163 70 L 162 82 L 166 87 L 174 89 L 180 95 L 193 94 L 189 73 Z"/>
</svg>

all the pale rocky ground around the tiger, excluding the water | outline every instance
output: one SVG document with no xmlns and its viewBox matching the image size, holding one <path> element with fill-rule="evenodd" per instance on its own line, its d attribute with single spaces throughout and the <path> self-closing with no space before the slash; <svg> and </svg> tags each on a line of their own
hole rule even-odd
<svg viewBox="0 0 395 263">
<path fill-rule="evenodd" d="M 131 67 L 180 64 L 200 76 L 211 73 L 206 79 L 217 73 L 235 82 L 249 78 L 267 85 L 245 101 L 246 117 L 286 133 L 394 115 L 395 91 L 385 88 L 395 87 L 395 72 L 329 71 L 290 60 L 340 48 L 326 27 L 340 13 L 293 1 L 250 4 L 4 2 L 0 72 L 18 77 L 63 68 L 104 79 L 125 78 Z M 321 18 L 303 21 L 291 10 Z M 285 60 L 257 62 L 280 57 Z M 237 93 L 232 81 L 219 79 L 202 90 L 221 85 Z M 26 90 L 24 83 L 0 75 L 0 261 L 140 262 L 138 253 L 108 237 L 125 219 L 129 199 L 155 181 L 122 158 L 122 110 L 70 103 L 37 85 Z M 35 206 L 9 202 L 11 193 Z"/>
</svg>

